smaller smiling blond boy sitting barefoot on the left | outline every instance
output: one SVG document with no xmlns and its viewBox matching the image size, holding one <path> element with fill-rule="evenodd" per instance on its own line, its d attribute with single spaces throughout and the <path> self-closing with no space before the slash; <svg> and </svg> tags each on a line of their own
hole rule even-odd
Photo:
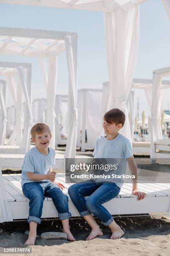
<svg viewBox="0 0 170 256">
<path fill-rule="evenodd" d="M 25 244 L 35 244 L 37 223 L 41 223 L 45 197 L 52 198 L 67 239 L 75 241 L 69 228 L 68 218 L 71 217 L 71 213 L 68 210 L 68 197 L 61 191 L 64 186 L 54 183 L 56 172 L 52 172 L 52 166 L 55 165 L 55 150 L 48 147 L 51 139 L 50 128 L 44 123 L 37 123 L 31 129 L 31 136 L 36 146 L 25 155 L 21 176 L 23 194 L 30 200 L 28 217 L 30 232 Z"/>
</svg>

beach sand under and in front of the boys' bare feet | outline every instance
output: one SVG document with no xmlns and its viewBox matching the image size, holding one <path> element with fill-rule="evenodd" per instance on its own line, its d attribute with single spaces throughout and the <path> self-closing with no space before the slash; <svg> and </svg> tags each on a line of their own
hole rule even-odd
<svg viewBox="0 0 170 256">
<path fill-rule="evenodd" d="M 101 224 L 104 236 L 92 241 L 85 241 L 90 228 L 83 219 L 70 220 L 70 228 L 75 236 L 75 242 L 65 240 L 45 240 L 37 238 L 35 246 L 31 246 L 32 253 L 29 255 L 121 255 L 121 256 L 169 256 L 170 255 L 170 215 L 146 215 L 135 217 L 116 218 L 115 221 L 125 230 L 125 235 L 118 240 L 111 240 L 110 230 Z M 20 247 L 23 246 L 28 236 L 24 232 L 28 230 L 27 221 L 2 223 L 0 228 L 0 246 Z M 62 232 L 60 220 L 42 220 L 38 225 L 37 234 L 43 232 Z M 11 236 L 12 232 L 20 232 L 20 236 Z M 10 255 L 21 255 L 10 253 Z"/>
</svg>

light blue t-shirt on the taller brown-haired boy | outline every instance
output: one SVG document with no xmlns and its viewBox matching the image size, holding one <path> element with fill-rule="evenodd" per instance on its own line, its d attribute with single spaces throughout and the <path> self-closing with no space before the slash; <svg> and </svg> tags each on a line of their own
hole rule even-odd
<svg viewBox="0 0 170 256">
<path fill-rule="evenodd" d="M 122 166 L 123 166 L 122 169 L 125 169 L 124 167 L 126 166 L 126 160 L 123 160 L 123 159 L 127 159 L 133 156 L 133 149 L 128 138 L 126 138 L 122 134 L 118 133 L 117 137 L 111 141 L 108 141 L 105 138 L 105 135 L 103 134 L 99 138 L 97 138 L 93 156 L 99 159 L 101 158 L 120 159 L 119 163 L 122 162 Z M 109 162 L 107 163 L 109 164 Z M 122 169 L 117 169 L 116 174 L 117 175 L 122 174 L 122 173 L 119 173 L 119 170 L 121 170 L 120 172 L 125 171 Z M 114 179 L 112 179 L 112 182 L 114 182 Z M 118 179 L 116 179 L 115 184 L 117 184 L 117 186 L 121 188 L 123 185 L 123 182 L 122 180 L 121 182 L 118 182 Z"/>
</svg>

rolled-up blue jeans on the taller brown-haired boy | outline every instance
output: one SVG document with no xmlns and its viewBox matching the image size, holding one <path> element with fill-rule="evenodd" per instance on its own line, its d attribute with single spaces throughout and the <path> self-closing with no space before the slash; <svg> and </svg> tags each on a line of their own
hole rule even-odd
<svg viewBox="0 0 170 256">
<path fill-rule="evenodd" d="M 99 218 L 104 225 L 110 225 L 112 215 L 102 205 L 116 197 L 120 187 L 115 183 L 81 182 L 73 184 L 68 189 L 70 198 L 80 213 L 80 216 L 92 213 Z M 86 200 L 85 197 L 89 196 Z"/>
</svg>

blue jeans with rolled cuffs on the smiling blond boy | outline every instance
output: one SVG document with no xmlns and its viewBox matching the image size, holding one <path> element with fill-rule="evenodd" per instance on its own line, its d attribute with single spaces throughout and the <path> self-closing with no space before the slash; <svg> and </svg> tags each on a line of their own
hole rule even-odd
<svg viewBox="0 0 170 256">
<path fill-rule="evenodd" d="M 57 184 L 48 181 L 28 182 L 23 184 L 22 189 L 25 197 L 30 200 L 28 223 L 31 221 L 41 223 L 40 218 L 45 197 L 52 198 L 60 220 L 71 217 L 71 213 L 68 210 L 68 197 L 62 193 Z"/>
</svg>

